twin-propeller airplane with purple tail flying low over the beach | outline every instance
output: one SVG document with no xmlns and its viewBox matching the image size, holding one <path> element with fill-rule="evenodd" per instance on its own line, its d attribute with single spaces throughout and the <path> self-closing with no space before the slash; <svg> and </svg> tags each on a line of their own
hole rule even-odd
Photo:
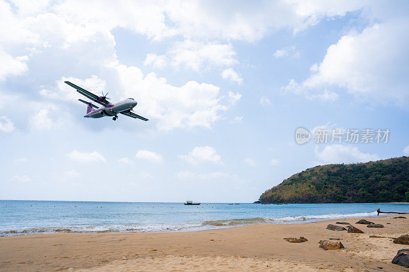
<svg viewBox="0 0 409 272">
<path fill-rule="evenodd" d="M 135 118 L 135 119 L 141 119 L 144 121 L 148 121 L 149 119 L 146 119 L 145 117 L 142 117 L 138 114 L 135 114 L 134 112 L 132 112 L 132 109 L 137 106 L 138 102 L 136 102 L 133 98 L 127 98 L 125 100 L 122 100 L 120 102 L 117 103 L 113 103 L 111 104 L 106 96 L 108 95 L 108 93 L 104 94 L 102 92 L 102 96 L 98 96 L 95 95 L 92 92 L 89 92 L 69 81 L 64 81 L 64 83 L 70 85 L 71 87 L 73 87 L 74 89 L 77 90 L 77 92 L 81 93 L 82 95 L 84 95 L 85 97 L 89 98 L 90 100 L 102 105 L 102 107 L 98 107 L 94 104 L 92 104 L 91 102 L 86 102 L 82 99 L 79 99 L 78 101 L 85 103 L 88 105 L 88 107 L 86 108 L 86 114 L 84 115 L 84 117 L 87 118 L 101 118 L 101 117 L 105 117 L 105 116 L 113 116 L 112 120 L 116 120 L 118 119 L 118 113 Z"/>
</svg>

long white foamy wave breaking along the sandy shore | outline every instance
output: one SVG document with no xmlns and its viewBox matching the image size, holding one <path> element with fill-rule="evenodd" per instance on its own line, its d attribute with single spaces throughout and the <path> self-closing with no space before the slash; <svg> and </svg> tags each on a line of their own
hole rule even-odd
<svg viewBox="0 0 409 272">
<path fill-rule="evenodd" d="M 306 223 L 344 217 L 371 217 L 377 212 L 350 214 L 299 215 L 285 217 L 256 217 L 238 219 L 220 219 L 198 222 L 180 222 L 175 224 L 150 225 L 103 225 L 73 227 L 32 227 L 16 229 L 0 229 L 0 236 L 39 234 L 39 233 L 117 233 L 117 232 L 164 232 L 164 231 L 197 231 L 217 228 L 228 228 L 254 224 L 289 224 Z"/>
</svg>

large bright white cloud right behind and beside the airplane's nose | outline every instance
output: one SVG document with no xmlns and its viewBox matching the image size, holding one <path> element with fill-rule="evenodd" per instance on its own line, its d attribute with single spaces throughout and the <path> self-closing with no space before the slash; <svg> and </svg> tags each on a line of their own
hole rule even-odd
<svg viewBox="0 0 409 272">
<path fill-rule="evenodd" d="M 124 97 L 135 97 L 140 101 L 138 113 L 156 119 L 156 127 L 162 131 L 193 127 L 210 129 L 212 123 L 220 118 L 219 113 L 233 106 L 240 95 L 229 93 L 227 99 L 230 103 L 223 104 L 219 87 L 212 84 L 189 81 L 175 87 L 167 84 L 164 78 L 157 78 L 155 73 L 144 77 L 135 66 L 119 65 L 115 69 Z"/>
</svg>

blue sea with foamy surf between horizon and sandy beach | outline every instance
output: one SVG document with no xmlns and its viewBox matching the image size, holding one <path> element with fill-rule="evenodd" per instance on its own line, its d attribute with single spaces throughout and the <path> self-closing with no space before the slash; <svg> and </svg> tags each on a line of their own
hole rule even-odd
<svg viewBox="0 0 409 272">
<path fill-rule="evenodd" d="M 0 200 L 0 235 L 55 232 L 197 231 L 409 212 L 407 204 L 284 204 Z"/>
</svg>

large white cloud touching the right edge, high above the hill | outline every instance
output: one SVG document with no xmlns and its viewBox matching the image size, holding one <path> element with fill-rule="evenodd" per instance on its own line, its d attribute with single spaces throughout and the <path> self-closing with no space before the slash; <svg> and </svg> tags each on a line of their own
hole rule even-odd
<svg viewBox="0 0 409 272">
<path fill-rule="evenodd" d="M 359 100 L 372 104 L 409 102 L 402 67 L 409 54 L 409 20 L 395 19 L 377 23 L 361 33 L 351 32 L 328 47 L 320 64 L 314 64 L 311 76 L 301 84 L 291 82 L 288 88 L 305 94 L 314 90 L 327 100 L 334 94 L 327 87 L 346 89 Z M 316 97 L 323 98 L 323 97 Z"/>
</svg>

